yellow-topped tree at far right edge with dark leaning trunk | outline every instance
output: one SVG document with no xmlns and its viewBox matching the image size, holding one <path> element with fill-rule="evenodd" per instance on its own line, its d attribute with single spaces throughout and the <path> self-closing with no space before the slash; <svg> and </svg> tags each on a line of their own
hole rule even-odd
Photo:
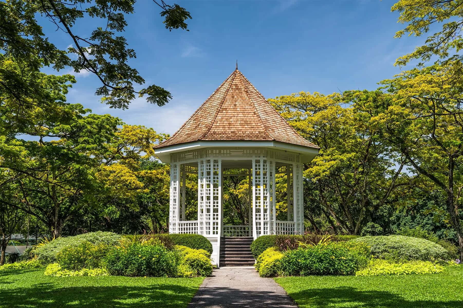
<svg viewBox="0 0 463 308">
<path fill-rule="evenodd" d="M 463 85 L 453 68 L 435 64 L 383 81 L 394 100 L 376 121 L 407 164 L 444 194 L 463 257 Z"/>
</svg>

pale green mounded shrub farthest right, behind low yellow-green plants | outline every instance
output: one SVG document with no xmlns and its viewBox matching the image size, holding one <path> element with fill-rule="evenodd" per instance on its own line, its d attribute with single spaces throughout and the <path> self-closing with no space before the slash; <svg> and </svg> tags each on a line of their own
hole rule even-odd
<svg viewBox="0 0 463 308">
<path fill-rule="evenodd" d="M 450 260 L 448 251 L 432 241 L 403 235 L 364 236 L 351 242 L 370 246 L 375 258 L 394 261 Z"/>
</svg>

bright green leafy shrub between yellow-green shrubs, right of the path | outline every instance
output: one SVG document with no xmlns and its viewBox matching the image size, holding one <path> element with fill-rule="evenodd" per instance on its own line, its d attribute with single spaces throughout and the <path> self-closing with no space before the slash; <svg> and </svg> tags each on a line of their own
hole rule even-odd
<svg viewBox="0 0 463 308">
<path fill-rule="evenodd" d="M 288 250 L 280 260 L 285 276 L 352 275 L 367 265 L 365 244 L 331 242 Z"/>
</svg>

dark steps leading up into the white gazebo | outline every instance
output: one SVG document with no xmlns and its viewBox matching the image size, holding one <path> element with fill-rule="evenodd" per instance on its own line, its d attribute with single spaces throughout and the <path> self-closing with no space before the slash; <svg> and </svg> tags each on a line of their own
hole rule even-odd
<svg viewBox="0 0 463 308">
<path fill-rule="evenodd" d="M 252 266 L 252 237 L 221 237 L 219 266 Z"/>
</svg>

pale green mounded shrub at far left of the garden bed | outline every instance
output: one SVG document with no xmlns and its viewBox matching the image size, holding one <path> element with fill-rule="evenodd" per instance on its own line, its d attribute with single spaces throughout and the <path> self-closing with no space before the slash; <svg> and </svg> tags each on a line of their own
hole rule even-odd
<svg viewBox="0 0 463 308">
<path fill-rule="evenodd" d="M 56 262 L 56 255 L 66 246 L 77 246 L 84 241 L 88 241 L 94 245 L 106 244 L 114 246 L 119 243 L 121 237 L 121 235 L 113 232 L 102 231 L 59 237 L 56 240 L 50 240 L 47 243 L 34 246 L 32 255 L 44 261 L 44 263 L 54 263 Z"/>
</svg>

